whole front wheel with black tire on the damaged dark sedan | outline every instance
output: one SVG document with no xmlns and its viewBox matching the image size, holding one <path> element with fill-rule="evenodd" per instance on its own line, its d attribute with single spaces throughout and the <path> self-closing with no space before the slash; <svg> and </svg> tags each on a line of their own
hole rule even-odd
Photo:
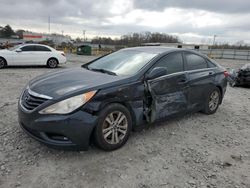
<svg viewBox="0 0 250 188">
<path fill-rule="evenodd" d="M 132 119 L 128 109 L 117 103 L 110 104 L 99 114 L 93 134 L 95 145 L 105 151 L 116 150 L 127 142 L 131 129 Z"/>
</svg>

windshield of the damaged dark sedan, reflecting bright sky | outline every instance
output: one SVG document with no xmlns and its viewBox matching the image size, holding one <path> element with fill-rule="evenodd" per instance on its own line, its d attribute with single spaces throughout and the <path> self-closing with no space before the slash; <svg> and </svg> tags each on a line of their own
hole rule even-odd
<svg viewBox="0 0 250 188">
<path fill-rule="evenodd" d="M 136 50 L 121 50 L 104 56 L 85 66 L 87 69 L 114 75 L 133 75 L 157 54 Z"/>
</svg>

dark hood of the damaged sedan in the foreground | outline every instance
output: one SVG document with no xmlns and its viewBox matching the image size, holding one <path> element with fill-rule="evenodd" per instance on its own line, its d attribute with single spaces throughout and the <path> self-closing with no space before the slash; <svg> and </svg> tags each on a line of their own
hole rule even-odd
<svg viewBox="0 0 250 188">
<path fill-rule="evenodd" d="M 125 79 L 123 76 L 72 68 L 39 76 L 30 81 L 29 88 L 38 94 L 58 98 L 77 92 L 98 90 L 123 79 Z"/>
</svg>

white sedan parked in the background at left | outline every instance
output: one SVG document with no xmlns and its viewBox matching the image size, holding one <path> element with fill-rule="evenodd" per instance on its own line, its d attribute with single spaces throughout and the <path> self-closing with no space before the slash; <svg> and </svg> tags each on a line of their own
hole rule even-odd
<svg viewBox="0 0 250 188">
<path fill-rule="evenodd" d="M 0 50 L 0 69 L 8 65 L 47 65 L 56 68 L 66 61 L 64 52 L 40 44 L 24 44 Z"/>
</svg>

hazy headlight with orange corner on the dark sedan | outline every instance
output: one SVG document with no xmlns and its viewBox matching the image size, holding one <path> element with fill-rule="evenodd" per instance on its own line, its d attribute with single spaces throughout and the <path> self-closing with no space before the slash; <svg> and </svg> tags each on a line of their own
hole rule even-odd
<svg viewBox="0 0 250 188">
<path fill-rule="evenodd" d="M 55 103 L 41 111 L 40 114 L 68 114 L 75 109 L 81 107 L 86 102 L 88 102 L 94 95 L 96 91 L 90 91 L 81 95 L 77 95 L 58 103 Z"/>
</svg>

